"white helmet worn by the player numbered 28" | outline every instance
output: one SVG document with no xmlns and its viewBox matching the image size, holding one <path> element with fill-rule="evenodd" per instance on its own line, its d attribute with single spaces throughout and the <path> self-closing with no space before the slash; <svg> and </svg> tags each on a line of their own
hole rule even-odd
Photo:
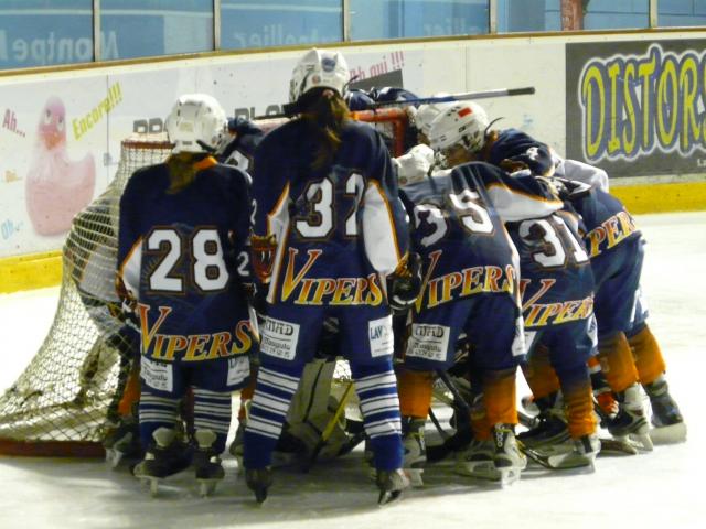
<svg viewBox="0 0 706 529">
<path fill-rule="evenodd" d="M 226 132 L 227 119 L 221 104 L 206 94 L 180 96 L 164 128 L 172 152 L 213 152 Z"/>
</svg>

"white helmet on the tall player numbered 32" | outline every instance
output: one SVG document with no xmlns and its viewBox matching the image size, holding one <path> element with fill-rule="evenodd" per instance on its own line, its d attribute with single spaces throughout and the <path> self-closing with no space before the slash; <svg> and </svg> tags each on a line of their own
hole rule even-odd
<svg viewBox="0 0 706 529">
<path fill-rule="evenodd" d="M 331 88 L 342 96 L 350 77 L 349 65 L 340 52 L 309 50 L 291 73 L 289 102 L 296 102 L 312 88 Z"/>
</svg>

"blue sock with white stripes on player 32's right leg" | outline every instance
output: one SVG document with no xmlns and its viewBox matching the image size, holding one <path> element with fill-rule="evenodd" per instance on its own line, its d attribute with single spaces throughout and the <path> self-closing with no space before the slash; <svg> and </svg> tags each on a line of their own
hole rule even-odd
<svg viewBox="0 0 706 529">
<path fill-rule="evenodd" d="M 371 440 L 375 468 L 402 468 L 402 421 L 392 359 L 368 365 L 351 361 L 351 373 L 361 401 L 365 433 Z"/>
</svg>

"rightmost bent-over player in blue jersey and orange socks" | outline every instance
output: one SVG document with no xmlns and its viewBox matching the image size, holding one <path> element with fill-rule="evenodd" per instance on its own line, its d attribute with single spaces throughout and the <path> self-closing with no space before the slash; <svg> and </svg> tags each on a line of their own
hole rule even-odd
<svg viewBox="0 0 706 529">
<path fill-rule="evenodd" d="M 644 238 L 623 204 L 600 187 L 555 179 L 570 206 L 586 225 L 584 236 L 596 278 L 596 317 L 605 376 L 618 395 L 620 409 L 608 423 L 617 438 L 637 438 L 642 449 L 652 443 L 638 381 L 652 404 L 651 436 L 680 442 L 686 425 L 668 392 L 665 363 L 646 325 L 648 311 L 640 289 Z M 633 357 L 634 355 L 634 357 Z"/>
</svg>

